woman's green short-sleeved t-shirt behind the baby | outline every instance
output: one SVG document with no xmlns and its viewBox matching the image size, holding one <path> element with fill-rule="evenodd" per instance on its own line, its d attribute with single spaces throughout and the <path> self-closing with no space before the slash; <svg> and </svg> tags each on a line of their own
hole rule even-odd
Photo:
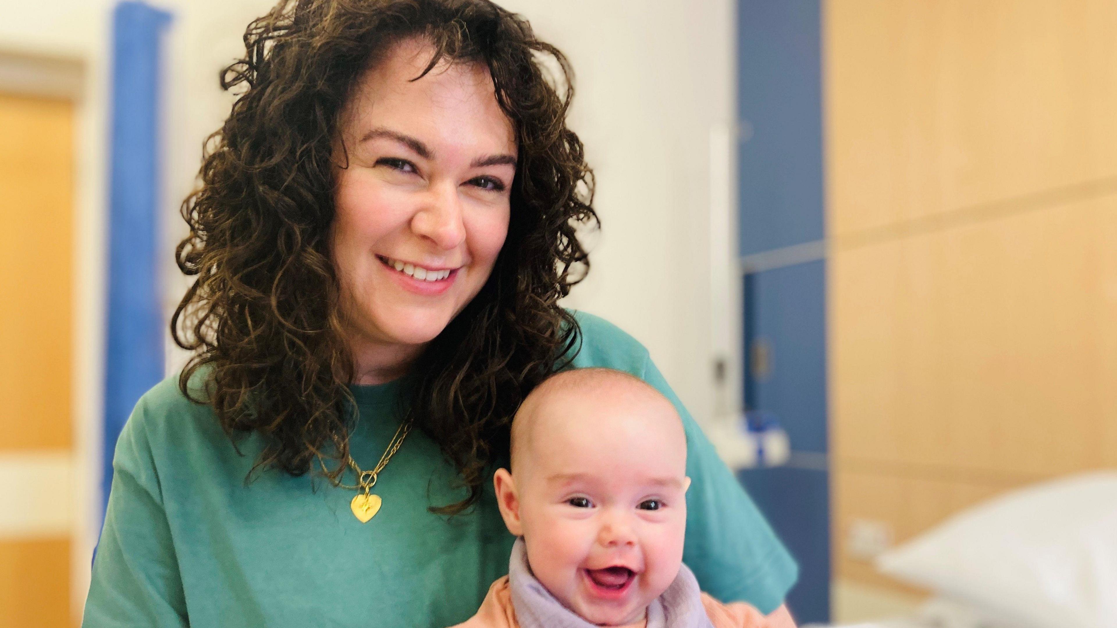
<svg viewBox="0 0 1117 628">
<path fill-rule="evenodd" d="M 577 314 L 575 367 L 643 378 L 679 409 L 687 434 L 684 561 L 705 591 L 774 610 L 794 583 L 794 561 L 679 403 L 648 351 L 615 326 Z M 360 421 L 351 449 L 375 465 L 399 426 L 397 383 L 353 387 Z M 136 405 L 116 445 L 105 526 L 84 626 L 378 626 L 443 628 L 476 612 L 507 573 L 513 536 L 491 486 L 470 514 L 456 472 L 419 430 L 381 473 L 383 506 L 362 524 L 354 491 L 321 476 L 245 475 L 261 448 L 222 432 L 212 410 L 187 400 L 172 377 Z M 353 477 L 345 478 L 350 484 Z"/>
</svg>

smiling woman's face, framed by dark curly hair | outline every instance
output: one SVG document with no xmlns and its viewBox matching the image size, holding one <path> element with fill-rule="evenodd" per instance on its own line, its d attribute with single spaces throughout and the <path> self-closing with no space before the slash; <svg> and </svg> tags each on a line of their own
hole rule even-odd
<svg viewBox="0 0 1117 628">
<path fill-rule="evenodd" d="M 359 369 L 362 352 L 437 336 L 508 231 L 512 123 L 484 66 L 440 63 L 412 82 L 431 55 L 422 40 L 399 44 L 342 118 L 332 256 Z"/>
</svg>

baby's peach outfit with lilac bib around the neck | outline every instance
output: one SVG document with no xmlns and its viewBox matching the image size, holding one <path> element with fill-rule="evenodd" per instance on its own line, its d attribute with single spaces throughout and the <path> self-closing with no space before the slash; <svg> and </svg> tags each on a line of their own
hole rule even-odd
<svg viewBox="0 0 1117 628">
<path fill-rule="evenodd" d="M 647 628 L 766 628 L 755 608 L 724 605 L 703 593 L 687 565 L 663 593 L 648 606 Z M 489 587 L 477 615 L 455 628 L 596 628 L 567 609 L 547 591 L 527 564 L 524 540 L 517 539 L 508 575 Z"/>
</svg>

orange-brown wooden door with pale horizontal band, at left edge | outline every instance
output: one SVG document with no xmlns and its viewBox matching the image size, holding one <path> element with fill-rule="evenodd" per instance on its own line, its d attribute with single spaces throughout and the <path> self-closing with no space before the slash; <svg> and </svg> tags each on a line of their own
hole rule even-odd
<svg viewBox="0 0 1117 628">
<path fill-rule="evenodd" d="M 74 104 L 0 93 L 0 628 L 68 626 Z"/>
</svg>

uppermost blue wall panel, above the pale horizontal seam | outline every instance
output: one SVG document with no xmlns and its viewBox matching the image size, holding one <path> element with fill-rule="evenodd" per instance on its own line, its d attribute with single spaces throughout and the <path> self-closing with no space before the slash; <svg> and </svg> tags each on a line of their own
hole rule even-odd
<svg viewBox="0 0 1117 628">
<path fill-rule="evenodd" d="M 819 0 L 739 0 L 741 254 L 822 239 Z"/>
</svg>

